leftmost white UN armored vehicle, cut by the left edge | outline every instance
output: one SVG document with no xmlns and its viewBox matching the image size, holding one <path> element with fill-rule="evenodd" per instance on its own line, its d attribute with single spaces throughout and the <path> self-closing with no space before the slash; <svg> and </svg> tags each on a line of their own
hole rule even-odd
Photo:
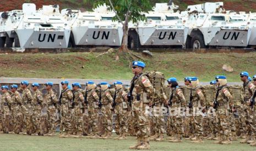
<svg viewBox="0 0 256 151">
<path fill-rule="evenodd" d="M 58 5 L 24 3 L 23 10 L 0 13 L 0 47 L 67 48 L 70 28 Z"/>
</svg>

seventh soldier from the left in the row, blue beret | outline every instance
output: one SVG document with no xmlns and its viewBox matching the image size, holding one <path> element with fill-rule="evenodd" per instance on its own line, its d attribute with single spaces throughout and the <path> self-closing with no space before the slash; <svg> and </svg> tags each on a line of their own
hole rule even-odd
<svg viewBox="0 0 256 151">
<path fill-rule="evenodd" d="M 84 95 L 81 89 L 79 89 L 80 84 L 74 83 L 74 125 L 73 132 L 75 138 L 83 137 L 83 111 L 84 111 Z"/>
</svg>

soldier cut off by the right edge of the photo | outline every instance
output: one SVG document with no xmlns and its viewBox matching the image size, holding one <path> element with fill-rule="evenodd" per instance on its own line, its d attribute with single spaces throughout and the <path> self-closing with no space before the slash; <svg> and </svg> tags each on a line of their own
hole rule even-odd
<svg viewBox="0 0 256 151">
<path fill-rule="evenodd" d="M 256 75 L 253 76 L 253 84 L 256 86 Z M 249 106 L 252 109 L 253 114 L 250 115 L 252 116 L 253 122 L 252 122 L 252 135 L 255 137 L 256 135 L 256 103 L 255 103 L 255 98 L 256 98 L 256 90 L 253 92 L 252 99 L 249 102 Z M 250 146 L 256 146 L 256 142 L 250 143 Z"/>
</svg>

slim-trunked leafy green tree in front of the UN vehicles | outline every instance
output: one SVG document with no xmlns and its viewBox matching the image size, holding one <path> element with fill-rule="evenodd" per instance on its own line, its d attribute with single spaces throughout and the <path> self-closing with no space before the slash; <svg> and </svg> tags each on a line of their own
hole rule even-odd
<svg viewBox="0 0 256 151">
<path fill-rule="evenodd" d="M 152 9 L 149 0 L 84 0 L 84 2 L 92 3 L 94 8 L 105 3 L 115 12 L 114 20 L 123 25 L 123 41 L 120 50 L 128 50 L 128 22 L 145 20 L 142 13 L 148 13 Z"/>
</svg>

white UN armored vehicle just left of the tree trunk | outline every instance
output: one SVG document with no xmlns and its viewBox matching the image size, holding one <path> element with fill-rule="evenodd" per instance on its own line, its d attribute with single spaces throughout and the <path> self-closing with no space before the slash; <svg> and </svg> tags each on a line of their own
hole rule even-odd
<svg viewBox="0 0 256 151">
<path fill-rule="evenodd" d="M 62 15 L 69 22 L 72 33 L 71 47 L 120 46 L 123 38 L 123 25 L 113 21 L 116 14 L 109 11 L 106 4 L 94 11 L 63 9 Z"/>
</svg>

